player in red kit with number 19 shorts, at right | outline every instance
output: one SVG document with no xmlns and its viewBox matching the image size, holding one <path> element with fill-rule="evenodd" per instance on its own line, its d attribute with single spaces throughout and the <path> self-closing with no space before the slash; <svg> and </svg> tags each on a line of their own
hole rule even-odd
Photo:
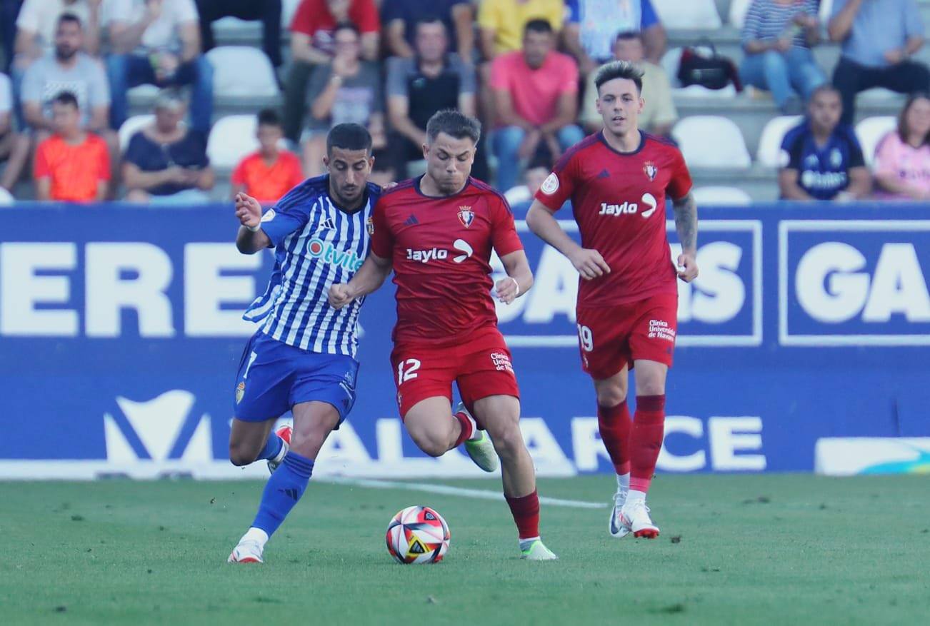
<svg viewBox="0 0 930 626">
<path fill-rule="evenodd" d="M 610 534 L 658 537 L 645 494 L 656 469 L 665 422 L 665 379 L 678 317 L 676 275 L 697 277 L 697 206 L 682 153 L 639 130 L 643 72 L 615 61 L 594 79 L 604 130 L 565 152 L 542 184 L 526 223 L 572 262 L 578 286 L 582 369 L 594 381 L 601 438 L 617 471 Z M 665 227 L 674 205 L 682 244 L 677 269 Z M 553 214 L 572 201 L 581 245 Z M 629 370 L 636 414 L 627 409 Z"/>
</svg>

